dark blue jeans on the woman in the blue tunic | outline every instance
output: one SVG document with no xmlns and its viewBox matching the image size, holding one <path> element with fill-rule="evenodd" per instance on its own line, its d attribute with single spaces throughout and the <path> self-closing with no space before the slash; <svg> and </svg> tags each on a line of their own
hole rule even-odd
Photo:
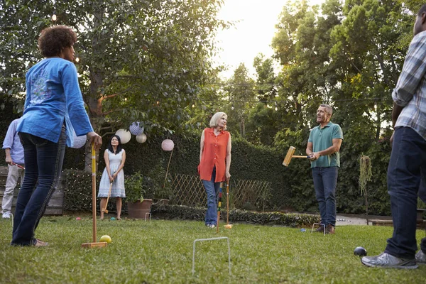
<svg viewBox="0 0 426 284">
<path fill-rule="evenodd" d="M 28 133 L 20 133 L 25 159 L 25 177 L 16 201 L 12 245 L 29 246 L 58 185 L 67 134 L 62 126 L 58 143 Z"/>
</svg>

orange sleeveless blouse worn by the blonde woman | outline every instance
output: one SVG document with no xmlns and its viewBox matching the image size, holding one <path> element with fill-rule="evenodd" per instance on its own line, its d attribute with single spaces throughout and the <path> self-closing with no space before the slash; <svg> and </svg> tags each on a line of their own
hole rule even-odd
<svg viewBox="0 0 426 284">
<path fill-rule="evenodd" d="M 216 178 L 214 182 L 226 180 L 226 147 L 228 146 L 229 132 L 221 131 L 214 135 L 214 129 L 204 129 L 204 149 L 201 155 L 201 163 L 198 165 L 198 173 L 202 180 L 212 180 L 213 168 L 216 165 Z"/>
</svg>

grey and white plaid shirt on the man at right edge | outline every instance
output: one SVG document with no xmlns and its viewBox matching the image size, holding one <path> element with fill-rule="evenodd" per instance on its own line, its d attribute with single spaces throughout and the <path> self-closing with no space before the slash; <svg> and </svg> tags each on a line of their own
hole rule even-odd
<svg viewBox="0 0 426 284">
<path fill-rule="evenodd" d="M 411 40 L 392 98 L 404 107 L 395 128 L 410 127 L 426 140 L 426 31 Z"/>
</svg>

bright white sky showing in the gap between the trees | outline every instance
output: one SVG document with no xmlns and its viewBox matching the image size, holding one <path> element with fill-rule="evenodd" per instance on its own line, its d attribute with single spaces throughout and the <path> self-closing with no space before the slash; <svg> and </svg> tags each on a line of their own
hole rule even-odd
<svg viewBox="0 0 426 284">
<path fill-rule="evenodd" d="M 312 5 L 322 2 L 324 0 L 310 0 Z M 273 55 L 271 42 L 275 24 L 285 3 L 285 0 L 224 0 L 219 18 L 239 22 L 217 34 L 217 46 L 221 50 L 214 61 L 228 67 L 221 77 L 231 77 L 241 62 L 249 68 L 249 75 L 256 77 L 253 60 L 259 53 L 266 58 Z"/>
</svg>

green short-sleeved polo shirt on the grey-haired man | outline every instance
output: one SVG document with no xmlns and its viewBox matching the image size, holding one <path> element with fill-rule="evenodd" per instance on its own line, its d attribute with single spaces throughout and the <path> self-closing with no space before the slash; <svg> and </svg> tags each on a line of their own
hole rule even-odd
<svg viewBox="0 0 426 284">
<path fill-rule="evenodd" d="M 308 142 L 312 142 L 312 151 L 320 152 L 333 146 L 333 139 L 339 138 L 343 140 L 343 132 L 339 124 L 333 124 L 331 121 L 320 128 L 314 127 L 310 134 Z M 332 155 L 322 155 L 318 160 L 311 161 L 311 168 L 316 167 L 339 167 L 340 168 L 340 153 L 332 153 Z"/>
</svg>

